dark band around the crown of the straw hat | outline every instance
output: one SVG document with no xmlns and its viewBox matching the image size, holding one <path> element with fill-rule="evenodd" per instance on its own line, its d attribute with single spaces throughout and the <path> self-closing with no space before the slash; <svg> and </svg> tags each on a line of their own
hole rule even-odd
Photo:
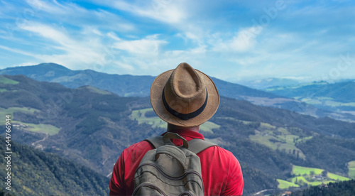
<svg viewBox="0 0 355 196">
<path fill-rule="evenodd" d="M 207 92 L 207 88 L 206 88 L 206 99 L 204 100 L 204 104 L 202 104 L 202 106 L 199 109 L 197 109 L 196 111 L 192 111 L 191 113 L 188 113 L 188 114 L 182 114 L 178 111 L 175 111 L 175 109 L 173 109 L 169 106 L 169 104 L 166 102 L 164 91 L 165 91 L 165 87 L 163 89 L 163 95 L 162 95 L 163 104 L 164 104 L 165 109 L 173 116 L 175 116 L 179 119 L 182 119 L 184 121 L 187 121 L 188 119 L 192 119 L 192 118 L 195 118 L 196 116 L 200 115 L 202 113 L 202 111 L 204 111 L 204 108 L 207 105 L 208 92 Z"/>
</svg>

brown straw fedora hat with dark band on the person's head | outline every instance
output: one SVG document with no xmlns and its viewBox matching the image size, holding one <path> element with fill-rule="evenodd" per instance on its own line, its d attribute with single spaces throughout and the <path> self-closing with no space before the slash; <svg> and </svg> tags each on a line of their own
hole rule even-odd
<svg viewBox="0 0 355 196">
<path fill-rule="evenodd" d="M 219 94 L 211 78 L 182 62 L 175 70 L 155 78 L 151 104 L 163 121 L 178 126 L 199 126 L 217 111 Z"/>
</svg>

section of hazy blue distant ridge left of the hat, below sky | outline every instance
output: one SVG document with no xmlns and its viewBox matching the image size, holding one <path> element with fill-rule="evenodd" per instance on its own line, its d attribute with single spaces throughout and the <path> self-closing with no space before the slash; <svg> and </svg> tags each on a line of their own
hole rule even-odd
<svg viewBox="0 0 355 196">
<path fill-rule="evenodd" d="M 65 87 L 77 88 L 84 85 L 114 92 L 122 97 L 146 97 L 154 77 L 133 75 L 110 75 L 93 70 L 70 70 L 55 63 L 8 67 L 0 75 L 26 75 L 34 80 L 58 82 Z"/>
</svg>

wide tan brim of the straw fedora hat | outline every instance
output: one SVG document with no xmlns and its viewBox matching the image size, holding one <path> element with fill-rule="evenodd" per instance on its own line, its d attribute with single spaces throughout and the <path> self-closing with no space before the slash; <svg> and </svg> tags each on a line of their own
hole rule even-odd
<svg viewBox="0 0 355 196">
<path fill-rule="evenodd" d="M 208 121 L 217 111 L 219 106 L 218 90 L 217 87 L 214 85 L 212 79 L 205 75 L 203 72 L 196 70 L 197 74 L 200 76 L 201 80 L 203 80 L 204 84 L 207 87 L 207 106 L 204 108 L 204 111 L 202 111 L 202 113 L 196 116 L 195 118 L 182 120 L 170 114 L 163 105 L 163 89 L 172 72 L 173 70 L 163 72 L 162 74 L 158 75 L 158 77 L 156 77 L 153 81 L 153 84 L 151 86 L 151 104 L 153 110 L 155 111 L 155 114 L 157 114 L 160 119 L 163 119 L 163 121 L 177 126 L 199 126 L 205 121 Z"/>
</svg>

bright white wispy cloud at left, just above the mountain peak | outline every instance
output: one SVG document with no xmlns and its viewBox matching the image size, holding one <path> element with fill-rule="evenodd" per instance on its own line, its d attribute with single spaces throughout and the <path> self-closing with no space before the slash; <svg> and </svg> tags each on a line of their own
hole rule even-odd
<svg viewBox="0 0 355 196">
<path fill-rule="evenodd" d="M 27 23 L 22 29 L 35 33 L 44 41 L 50 40 L 50 48 L 55 52 L 49 54 L 35 54 L 35 58 L 42 62 L 56 62 L 70 68 L 85 68 L 88 65 L 105 65 L 107 62 L 107 47 L 95 36 L 99 31 L 82 31 L 78 36 L 65 31 L 63 28 L 53 28 L 42 23 Z M 101 33 L 99 33 L 101 34 Z M 95 35 L 92 37 L 92 35 Z M 109 50 L 108 50 L 109 51 Z M 26 53 L 25 53 L 26 54 Z"/>
</svg>

